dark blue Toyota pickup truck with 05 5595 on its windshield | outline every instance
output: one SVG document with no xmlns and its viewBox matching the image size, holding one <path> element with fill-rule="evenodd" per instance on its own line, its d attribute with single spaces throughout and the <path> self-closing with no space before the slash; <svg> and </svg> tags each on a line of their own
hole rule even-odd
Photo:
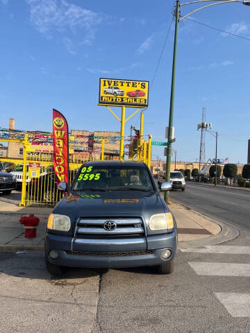
<svg viewBox="0 0 250 333">
<path fill-rule="evenodd" d="M 172 273 L 177 246 L 174 216 L 142 162 L 88 162 L 49 216 L 45 263 L 51 274 L 62 266 L 157 266 Z M 162 190 L 172 185 L 163 182 Z"/>
</svg>

